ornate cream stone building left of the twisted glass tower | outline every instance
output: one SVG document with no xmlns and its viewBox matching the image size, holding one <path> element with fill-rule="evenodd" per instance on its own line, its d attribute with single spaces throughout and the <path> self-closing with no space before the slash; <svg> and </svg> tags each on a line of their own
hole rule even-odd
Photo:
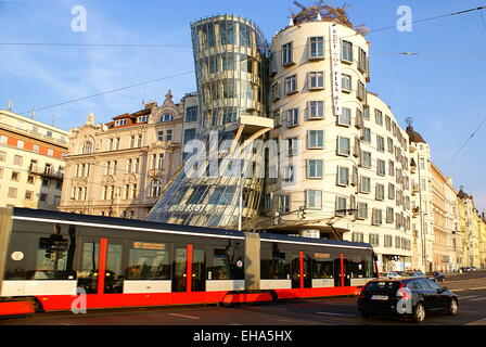
<svg viewBox="0 0 486 347">
<path fill-rule="evenodd" d="M 162 105 L 145 103 L 108 124 L 95 125 L 90 114 L 69 132 L 60 210 L 144 219 L 181 164 L 188 105 L 196 97 L 176 104 L 168 91 Z"/>
</svg>

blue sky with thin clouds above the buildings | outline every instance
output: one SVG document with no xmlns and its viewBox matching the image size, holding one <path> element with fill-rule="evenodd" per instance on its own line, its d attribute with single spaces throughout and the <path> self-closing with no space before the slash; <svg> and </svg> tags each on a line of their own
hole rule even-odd
<svg viewBox="0 0 486 347">
<path fill-rule="evenodd" d="M 302 0 L 304 4 L 314 1 Z M 486 5 L 486 0 L 349 0 L 355 24 L 370 29 L 393 26 L 400 5 L 413 20 Z M 342 1 L 331 1 L 342 5 Z M 87 31 L 71 29 L 74 5 L 87 10 Z M 234 13 L 256 22 L 268 40 L 284 27 L 291 0 L 0 0 L 0 42 L 157 43 L 190 46 L 190 22 Z M 486 17 L 486 11 L 484 11 Z M 412 33 L 371 33 L 371 82 L 402 127 L 407 117 L 432 145 L 433 160 L 453 177 L 457 188 L 486 208 L 486 125 L 445 168 L 453 153 L 486 117 L 486 25 L 481 12 L 415 24 Z M 387 52 L 418 52 L 402 56 Z M 450 54 L 469 57 L 449 56 Z M 476 56 L 476 57 L 474 57 Z M 477 57 L 478 56 L 478 57 Z M 482 56 L 482 57 L 481 57 Z M 182 48 L 66 48 L 0 46 L 0 107 L 14 100 L 14 112 L 55 104 L 145 80 L 194 69 L 192 50 Z M 176 100 L 195 91 L 193 75 L 76 102 L 36 113 L 36 118 L 69 129 L 93 111 L 97 121 L 138 111 L 142 100 L 162 102 L 167 89 Z M 445 168 L 445 169 L 444 169 Z"/>
</svg>

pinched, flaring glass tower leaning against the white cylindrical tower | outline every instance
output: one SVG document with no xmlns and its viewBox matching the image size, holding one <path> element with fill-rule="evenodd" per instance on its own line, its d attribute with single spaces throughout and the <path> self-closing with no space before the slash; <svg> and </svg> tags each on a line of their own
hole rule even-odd
<svg viewBox="0 0 486 347">
<path fill-rule="evenodd" d="M 236 16 L 201 20 L 191 29 L 200 124 L 186 151 L 203 156 L 194 166 L 199 174 L 191 175 L 194 156 L 186 153 L 187 167 L 164 189 L 148 220 L 236 228 L 240 198 L 243 220 L 258 215 L 261 201 L 264 149 L 254 140 L 270 130 L 255 126 L 268 114 L 269 47 L 252 22 Z M 248 139 L 246 151 L 234 151 Z"/>
</svg>

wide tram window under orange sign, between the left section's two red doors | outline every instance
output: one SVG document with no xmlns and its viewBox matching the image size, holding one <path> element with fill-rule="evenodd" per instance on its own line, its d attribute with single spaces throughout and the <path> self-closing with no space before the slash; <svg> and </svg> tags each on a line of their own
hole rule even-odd
<svg viewBox="0 0 486 347">
<path fill-rule="evenodd" d="M 127 280 L 170 280 L 168 250 L 130 249 Z"/>
</svg>

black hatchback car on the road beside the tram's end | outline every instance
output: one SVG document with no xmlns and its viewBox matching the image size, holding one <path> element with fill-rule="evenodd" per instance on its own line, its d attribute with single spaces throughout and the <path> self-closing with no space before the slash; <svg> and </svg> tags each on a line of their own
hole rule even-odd
<svg viewBox="0 0 486 347">
<path fill-rule="evenodd" d="M 448 288 L 426 278 L 373 280 L 359 294 L 358 311 L 364 319 L 398 316 L 420 323 L 426 312 L 458 314 L 459 300 Z"/>
</svg>

